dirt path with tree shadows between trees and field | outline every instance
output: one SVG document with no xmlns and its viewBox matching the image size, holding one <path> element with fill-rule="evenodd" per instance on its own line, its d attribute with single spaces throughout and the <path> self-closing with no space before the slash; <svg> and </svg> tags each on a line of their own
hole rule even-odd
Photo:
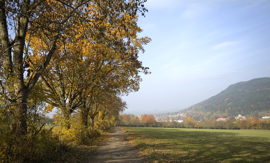
<svg viewBox="0 0 270 163">
<path fill-rule="evenodd" d="M 115 127 L 106 141 L 91 157 L 89 162 L 93 163 L 143 163 L 136 149 L 125 138 L 125 133 L 119 127 Z"/>
</svg>

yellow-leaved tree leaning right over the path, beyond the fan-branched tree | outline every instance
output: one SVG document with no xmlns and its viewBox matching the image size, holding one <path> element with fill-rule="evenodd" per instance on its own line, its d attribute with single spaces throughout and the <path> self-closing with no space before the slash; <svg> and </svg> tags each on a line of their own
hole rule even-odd
<svg viewBox="0 0 270 163">
<path fill-rule="evenodd" d="M 141 81 L 139 73 L 148 73 L 148 68 L 143 67 L 138 60 L 138 53 L 144 52 L 143 45 L 148 43 L 150 38 L 137 38 L 136 34 L 141 32 L 141 29 L 136 25 L 136 15 L 121 14 L 127 23 L 124 30 L 113 28 L 114 26 L 110 24 L 102 24 L 108 26 L 105 33 L 109 36 L 106 38 L 117 45 L 103 46 L 97 43 L 92 47 L 91 54 L 95 57 L 89 71 L 93 76 L 89 79 L 88 89 L 82 95 L 83 104 L 80 108 L 83 124 L 88 125 L 89 116 L 91 129 L 96 116 L 96 100 L 103 92 L 110 91 L 123 95 L 137 91 Z M 115 35 L 112 36 L 111 33 Z"/>
</svg>

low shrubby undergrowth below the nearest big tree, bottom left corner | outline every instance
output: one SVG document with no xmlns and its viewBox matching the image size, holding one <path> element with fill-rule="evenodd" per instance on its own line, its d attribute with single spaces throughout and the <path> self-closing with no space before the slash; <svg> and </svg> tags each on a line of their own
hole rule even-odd
<svg viewBox="0 0 270 163">
<path fill-rule="evenodd" d="M 51 129 L 42 129 L 36 134 L 16 137 L 11 132 L 6 133 L 0 143 L 0 160 L 2 162 L 51 162 L 58 160 L 68 146 L 61 143 Z"/>
</svg>

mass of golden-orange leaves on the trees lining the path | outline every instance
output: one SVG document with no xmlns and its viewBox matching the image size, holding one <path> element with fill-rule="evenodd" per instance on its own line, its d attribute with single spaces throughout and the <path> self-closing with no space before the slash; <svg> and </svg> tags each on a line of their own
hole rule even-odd
<svg viewBox="0 0 270 163">
<path fill-rule="evenodd" d="M 138 54 L 150 38 L 137 37 L 142 31 L 137 26 L 138 7 L 137 1 L 70 0 L 49 0 L 40 6 L 36 23 L 30 24 L 29 61 L 32 69 L 42 66 L 59 35 L 43 72 L 44 89 L 53 106 L 76 110 L 82 101 L 102 103 L 107 102 L 103 96 L 139 90 L 139 72 L 147 74 L 148 68 Z"/>
</svg>

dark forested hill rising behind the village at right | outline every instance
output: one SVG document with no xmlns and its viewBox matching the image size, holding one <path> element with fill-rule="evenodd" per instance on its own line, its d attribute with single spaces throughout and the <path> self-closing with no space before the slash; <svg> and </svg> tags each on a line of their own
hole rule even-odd
<svg viewBox="0 0 270 163">
<path fill-rule="evenodd" d="M 230 85 L 219 94 L 185 110 L 198 120 L 238 114 L 258 117 L 259 113 L 270 111 L 270 78 L 257 78 Z"/>
</svg>

